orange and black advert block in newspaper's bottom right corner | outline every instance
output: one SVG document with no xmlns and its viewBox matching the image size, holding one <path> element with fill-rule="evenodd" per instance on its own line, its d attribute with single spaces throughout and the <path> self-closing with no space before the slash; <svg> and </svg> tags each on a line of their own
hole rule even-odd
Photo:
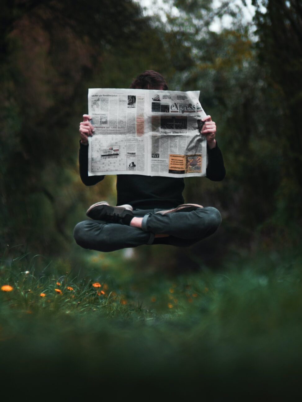
<svg viewBox="0 0 302 402">
<path fill-rule="evenodd" d="M 169 173 L 200 173 L 201 172 L 201 154 L 193 155 L 169 155 Z"/>
</svg>

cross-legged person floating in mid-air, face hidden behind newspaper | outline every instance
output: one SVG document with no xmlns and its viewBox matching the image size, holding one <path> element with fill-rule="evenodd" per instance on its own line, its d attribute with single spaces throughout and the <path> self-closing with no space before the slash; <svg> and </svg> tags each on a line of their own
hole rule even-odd
<svg viewBox="0 0 302 402">
<path fill-rule="evenodd" d="M 147 70 L 132 82 L 130 88 L 168 90 L 168 85 L 161 74 Z M 94 131 L 89 120 L 89 115 L 83 115 L 79 130 L 80 177 L 86 186 L 96 185 L 105 178 L 88 176 L 88 136 Z M 199 122 L 199 127 L 207 140 L 206 177 L 221 181 L 226 170 L 216 141 L 216 123 L 208 115 Z M 184 179 L 178 177 L 118 174 L 117 206 L 109 205 L 107 201 L 91 205 L 86 212 L 91 219 L 76 225 L 74 239 L 83 248 L 101 252 L 142 244 L 191 246 L 214 234 L 222 219 L 214 207 L 185 204 L 184 187 Z"/>
</svg>

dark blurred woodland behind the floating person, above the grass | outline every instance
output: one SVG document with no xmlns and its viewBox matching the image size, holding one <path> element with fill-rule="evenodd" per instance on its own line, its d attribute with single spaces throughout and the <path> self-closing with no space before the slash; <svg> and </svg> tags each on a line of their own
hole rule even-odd
<svg viewBox="0 0 302 402">
<path fill-rule="evenodd" d="M 301 237 L 302 5 L 299 0 L 170 0 L 146 16 L 130 0 L 15 0 L 1 9 L 1 248 L 44 256 L 76 249 L 92 203 L 116 204 L 116 176 L 85 187 L 79 123 L 88 88 L 127 88 L 153 69 L 171 90 L 200 90 L 217 124 L 226 177 L 185 179 L 185 201 L 214 206 L 218 232 L 189 249 L 142 246 L 158 267 L 194 269 L 230 254 L 295 250 Z M 229 28 L 211 30 L 228 15 Z M 162 258 L 164 253 L 165 258 Z"/>
</svg>

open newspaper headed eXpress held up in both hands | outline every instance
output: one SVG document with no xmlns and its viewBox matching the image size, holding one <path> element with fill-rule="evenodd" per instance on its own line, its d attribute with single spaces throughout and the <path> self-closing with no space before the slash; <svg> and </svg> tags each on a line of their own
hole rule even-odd
<svg viewBox="0 0 302 402">
<path fill-rule="evenodd" d="M 199 91 L 88 90 L 88 176 L 205 176 Z"/>
</svg>

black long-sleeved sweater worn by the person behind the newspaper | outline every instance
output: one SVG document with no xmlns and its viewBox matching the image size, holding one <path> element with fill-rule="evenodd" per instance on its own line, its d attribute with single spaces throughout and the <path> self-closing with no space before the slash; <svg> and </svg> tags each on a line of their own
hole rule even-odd
<svg viewBox="0 0 302 402">
<path fill-rule="evenodd" d="M 218 144 L 207 148 L 208 165 L 206 177 L 223 180 L 226 170 Z M 105 176 L 88 176 L 88 146 L 80 142 L 80 177 L 84 185 L 93 186 Z M 117 175 L 117 205 L 129 204 L 133 209 L 173 208 L 183 204 L 185 182 L 182 177 L 143 176 L 141 174 Z"/>
</svg>

